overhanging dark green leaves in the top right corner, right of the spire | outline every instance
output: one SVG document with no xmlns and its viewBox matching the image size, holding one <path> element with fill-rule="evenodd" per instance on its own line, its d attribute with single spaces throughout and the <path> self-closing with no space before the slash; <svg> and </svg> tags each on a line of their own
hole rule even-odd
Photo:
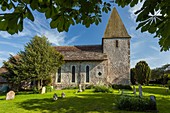
<svg viewBox="0 0 170 113">
<path fill-rule="evenodd" d="M 141 32 L 156 33 L 159 38 L 161 51 L 170 48 L 170 1 L 169 0 L 115 0 L 119 6 L 129 5 L 134 7 L 139 2 L 144 2 L 141 9 L 135 12 L 136 22 L 139 22 L 136 29 Z"/>
</svg>

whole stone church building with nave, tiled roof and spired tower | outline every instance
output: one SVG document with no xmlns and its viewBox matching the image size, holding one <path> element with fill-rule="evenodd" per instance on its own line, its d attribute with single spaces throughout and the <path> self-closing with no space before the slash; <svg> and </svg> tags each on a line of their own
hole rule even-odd
<svg viewBox="0 0 170 113">
<path fill-rule="evenodd" d="M 56 46 L 65 64 L 58 69 L 58 88 L 78 84 L 130 84 L 130 36 L 113 8 L 101 45 Z"/>
</svg>

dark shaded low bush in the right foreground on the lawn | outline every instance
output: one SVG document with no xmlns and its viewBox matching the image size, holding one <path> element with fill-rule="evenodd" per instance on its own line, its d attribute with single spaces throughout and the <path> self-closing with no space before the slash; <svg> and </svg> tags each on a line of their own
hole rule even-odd
<svg viewBox="0 0 170 113">
<path fill-rule="evenodd" d="M 120 110 L 127 111 L 151 111 L 156 110 L 154 102 L 148 98 L 121 96 L 115 101 L 116 107 Z"/>
</svg>

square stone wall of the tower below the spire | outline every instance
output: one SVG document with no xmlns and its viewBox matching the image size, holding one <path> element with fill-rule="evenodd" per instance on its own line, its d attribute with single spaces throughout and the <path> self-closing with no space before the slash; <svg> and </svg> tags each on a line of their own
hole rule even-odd
<svg viewBox="0 0 170 113">
<path fill-rule="evenodd" d="M 109 59 L 107 81 L 113 84 L 130 84 L 130 39 L 103 39 L 103 52 Z"/>
</svg>

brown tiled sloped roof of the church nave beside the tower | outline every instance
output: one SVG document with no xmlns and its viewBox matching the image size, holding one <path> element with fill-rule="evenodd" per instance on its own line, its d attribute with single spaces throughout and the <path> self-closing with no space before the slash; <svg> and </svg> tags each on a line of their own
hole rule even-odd
<svg viewBox="0 0 170 113">
<path fill-rule="evenodd" d="M 55 49 L 64 55 L 65 61 L 94 61 L 107 59 L 107 55 L 102 53 L 102 45 L 55 46 Z"/>
</svg>

